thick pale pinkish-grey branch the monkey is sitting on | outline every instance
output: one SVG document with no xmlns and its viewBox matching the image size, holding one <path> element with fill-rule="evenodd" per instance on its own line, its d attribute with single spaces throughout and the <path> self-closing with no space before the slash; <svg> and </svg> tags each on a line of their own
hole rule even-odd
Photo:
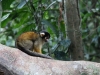
<svg viewBox="0 0 100 75">
<path fill-rule="evenodd" d="M 0 75 L 100 75 L 100 64 L 32 57 L 0 44 Z"/>
</svg>

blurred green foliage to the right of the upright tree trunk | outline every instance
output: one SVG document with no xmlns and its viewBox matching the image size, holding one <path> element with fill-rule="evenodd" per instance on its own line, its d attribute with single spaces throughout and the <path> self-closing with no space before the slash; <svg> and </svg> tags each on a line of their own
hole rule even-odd
<svg viewBox="0 0 100 75">
<path fill-rule="evenodd" d="M 100 59 L 100 1 L 81 0 L 82 38 L 87 60 Z"/>
</svg>

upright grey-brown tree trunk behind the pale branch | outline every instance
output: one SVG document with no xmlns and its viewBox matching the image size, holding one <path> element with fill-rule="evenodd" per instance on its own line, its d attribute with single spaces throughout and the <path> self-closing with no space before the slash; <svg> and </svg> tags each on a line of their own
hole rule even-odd
<svg viewBox="0 0 100 75">
<path fill-rule="evenodd" d="M 73 60 L 83 60 L 80 14 L 78 0 L 66 0 L 67 30 L 71 40 L 70 52 Z"/>
</svg>

